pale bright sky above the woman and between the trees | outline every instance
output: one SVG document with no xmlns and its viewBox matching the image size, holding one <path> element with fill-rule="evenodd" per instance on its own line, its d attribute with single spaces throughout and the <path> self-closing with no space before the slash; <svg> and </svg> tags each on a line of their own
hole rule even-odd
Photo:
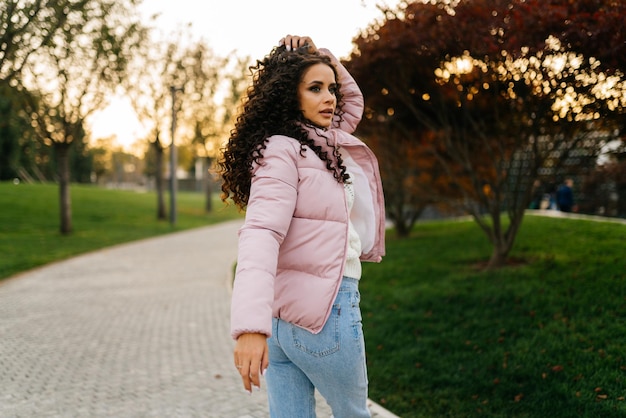
<svg viewBox="0 0 626 418">
<path fill-rule="evenodd" d="M 377 4 L 399 0 L 144 0 L 140 12 L 164 33 L 191 25 L 217 55 L 235 53 L 260 59 L 287 34 L 310 36 L 318 48 L 339 58 L 352 51 L 352 39 L 376 19 Z M 128 100 L 116 96 L 91 119 L 94 139 L 112 137 L 126 148 L 143 135 Z"/>
</svg>

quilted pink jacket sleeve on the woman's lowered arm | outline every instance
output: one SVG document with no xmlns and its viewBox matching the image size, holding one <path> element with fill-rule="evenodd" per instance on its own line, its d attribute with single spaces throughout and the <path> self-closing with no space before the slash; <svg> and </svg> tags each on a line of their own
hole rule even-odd
<svg viewBox="0 0 626 418">
<path fill-rule="evenodd" d="M 289 229 L 297 198 L 295 141 L 272 137 L 253 172 L 239 247 L 231 305 L 231 335 L 272 330 L 278 251 Z"/>
</svg>

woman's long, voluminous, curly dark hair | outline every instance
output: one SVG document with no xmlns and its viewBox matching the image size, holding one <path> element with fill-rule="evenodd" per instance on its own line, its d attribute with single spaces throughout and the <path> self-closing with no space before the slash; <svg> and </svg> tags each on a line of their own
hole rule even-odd
<svg viewBox="0 0 626 418">
<path fill-rule="evenodd" d="M 330 58 L 317 51 L 310 52 L 308 46 L 293 51 L 287 51 L 285 46 L 275 47 L 263 60 L 257 60 L 256 65 L 250 67 L 252 85 L 248 87 L 235 128 L 218 161 L 224 202 L 231 198 L 240 209 L 247 206 L 253 164 L 258 164 L 263 158 L 266 142 L 272 135 L 296 139 L 300 142 L 301 155 L 307 147 L 310 148 L 326 163 L 326 168 L 338 182 L 347 181 L 346 167 L 338 148 L 326 141 L 333 150 L 329 155 L 316 145 L 304 127 L 314 125 L 304 119 L 300 110 L 298 84 L 306 69 L 320 63 L 332 68 L 335 80 L 338 79 L 337 69 Z M 336 97 L 335 115 L 341 118 L 343 95 L 339 85 Z"/>
</svg>

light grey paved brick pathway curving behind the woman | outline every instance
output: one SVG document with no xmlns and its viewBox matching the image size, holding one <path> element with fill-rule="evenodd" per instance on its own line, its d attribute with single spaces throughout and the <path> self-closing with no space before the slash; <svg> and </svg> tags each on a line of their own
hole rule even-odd
<svg viewBox="0 0 626 418">
<path fill-rule="evenodd" d="M 264 389 L 244 392 L 232 364 L 239 226 L 124 244 L 0 283 L 0 417 L 268 417 Z M 318 417 L 328 416 L 319 399 Z"/>
</svg>

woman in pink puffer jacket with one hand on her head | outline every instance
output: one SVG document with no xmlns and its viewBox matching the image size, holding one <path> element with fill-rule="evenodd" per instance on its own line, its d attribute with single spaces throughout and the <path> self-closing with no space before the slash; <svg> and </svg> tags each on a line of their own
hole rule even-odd
<svg viewBox="0 0 626 418">
<path fill-rule="evenodd" d="M 286 36 L 257 61 L 220 161 L 222 198 L 246 208 L 231 310 L 235 366 L 265 375 L 270 416 L 369 417 L 358 281 L 384 255 L 378 163 L 350 135 L 356 82 L 310 38 Z"/>
</svg>

